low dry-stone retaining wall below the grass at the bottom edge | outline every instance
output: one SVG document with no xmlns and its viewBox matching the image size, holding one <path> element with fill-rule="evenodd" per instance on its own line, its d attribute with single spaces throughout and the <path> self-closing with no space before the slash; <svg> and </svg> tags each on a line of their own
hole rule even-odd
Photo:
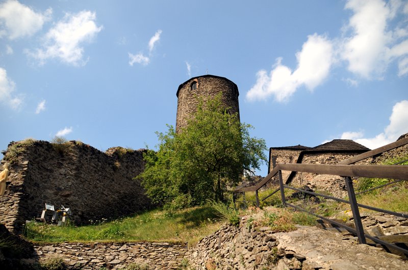
<svg viewBox="0 0 408 270">
<path fill-rule="evenodd" d="M 34 246 L 34 257 L 61 257 L 68 269 L 120 269 L 130 263 L 150 269 L 180 269 L 188 251 L 186 243 L 58 243 Z"/>
</svg>

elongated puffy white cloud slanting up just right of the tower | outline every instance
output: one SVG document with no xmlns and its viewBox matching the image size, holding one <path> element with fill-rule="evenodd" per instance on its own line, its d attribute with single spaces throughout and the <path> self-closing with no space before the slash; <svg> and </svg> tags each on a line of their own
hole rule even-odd
<svg viewBox="0 0 408 270">
<path fill-rule="evenodd" d="M 317 34 L 308 37 L 302 50 L 296 53 L 297 69 L 292 72 L 277 58 L 270 75 L 266 70 L 257 73 L 257 82 L 246 94 L 249 101 L 267 99 L 274 96 L 279 102 L 286 101 L 302 85 L 311 91 L 328 76 L 334 62 L 333 44 Z"/>
</svg>

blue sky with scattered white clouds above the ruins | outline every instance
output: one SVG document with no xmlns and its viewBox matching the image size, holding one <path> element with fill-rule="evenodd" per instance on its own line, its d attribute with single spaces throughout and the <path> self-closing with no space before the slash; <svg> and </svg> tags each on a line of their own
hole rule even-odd
<svg viewBox="0 0 408 270">
<path fill-rule="evenodd" d="M 152 148 L 207 73 L 268 147 L 384 145 L 408 132 L 408 3 L 0 1 L 0 148 Z"/>
</svg>

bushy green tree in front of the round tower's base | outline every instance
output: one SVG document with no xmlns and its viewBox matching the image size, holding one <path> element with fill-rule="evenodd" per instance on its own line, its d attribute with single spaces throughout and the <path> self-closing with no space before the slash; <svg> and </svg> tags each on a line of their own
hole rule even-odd
<svg viewBox="0 0 408 270">
<path fill-rule="evenodd" d="M 199 100 L 181 132 L 172 126 L 157 132 L 158 151 L 145 154 L 145 171 L 138 176 L 152 200 L 172 207 L 222 201 L 227 187 L 266 162 L 265 140 L 250 137 L 252 127 L 227 111 L 221 96 Z"/>
</svg>

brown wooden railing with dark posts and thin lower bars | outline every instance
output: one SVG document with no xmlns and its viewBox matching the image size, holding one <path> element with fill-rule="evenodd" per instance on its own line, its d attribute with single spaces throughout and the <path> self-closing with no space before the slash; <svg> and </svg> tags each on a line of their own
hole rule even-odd
<svg viewBox="0 0 408 270">
<path fill-rule="evenodd" d="M 316 195 L 316 196 L 321 196 L 327 199 L 332 199 L 332 200 L 336 200 L 336 201 L 340 201 L 340 202 L 344 202 L 347 204 L 350 204 L 351 206 L 351 211 L 353 214 L 353 219 L 354 219 L 354 225 L 355 225 L 355 229 L 346 226 L 345 224 L 342 223 L 338 223 L 336 221 L 333 220 L 328 220 L 327 218 L 321 217 L 319 215 L 316 215 L 314 213 L 310 213 L 313 214 L 317 217 L 319 217 L 322 220 L 326 220 L 330 223 L 334 223 L 340 227 L 344 227 L 345 229 L 347 229 L 350 232 L 355 233 L 358 238 L 359 238 L 359 243 L 360 244 L 366 244 L 366 238 L 371 239 L 372 241 L 379 243 L 381 245 L 385 245 L 388 246 L 392 249 L 398 250 L 400 252 L 403 252 L 405 254 L 408 254 L 408 250 L 400 248 L 396 245 L 387 243 L 382 241 L 381 239 L 379 239 L 378 237 L 374 237 L 368 234 L 365 234 L 364 229 L 363 229 L 363 225 L 361 222 L 361 217 L 360 217 L 360 212 L 359 212 L 359 207 L 362 208 L 367 208 L 373 211 L 377 211 L 377 212 L 381 212 L 381 213 L 386 213 L 386 214 L 390 214 L 390 215 L 394 215 L 394 216 L 398 216 L 398 217 L 403 217 L 403 218 L 408 218 L 408 215 L 406 214 L 401 214 L 401 213 L 397 213 L 397 212 L 392 212 L 392 211 L 387 211 L 386 209 L 381 209 L 381 208 L 377 208 L 377 207 L 372 207 L 369 205 L 364 205 L 364 204 L 360 204 L 357 202 L 356 198 L 355 198 L 355 192 L 354 192 L 354 187 L 353 187 L 353 179 L 352 177 L 376 177 L 376 178 L 388 178 L 388 179 L 398 179 L 397 181 L 393 182 L 392 184 L 395 184 L 398 181 L 407 181 L 408 180 L 408 165 L 351 165 L 355 162 L 364 160 L 366 158 L 370 158 L 373 157 L 375 155 L 379 155 L 381 153 L 390 151 L 391 149 L 394 149 L 396 147 L 402 146 L 408 144 L 408 137 L 398 140 L 396 142 L 387 144 L 385 146 L 379 147 L 377 149 L 374 149 L 372 151 L 363 153 L 361 155 L 358 156 L 354 156 L 351 157 L 349 159 L 343 160 L 342 162 L 338 163 L 338 164 L 276 164 L 276 166 L 274 166 L 274 168 L 272 169 L 272 171 L 270 173 L 268 173 L 268 175 L 262 179 L 262 181 L 260 183 L 258 183 L 256 186 L 252 186 L 252 187 L 246 187 L 246 188 L 239 188 L 236 189 L 234 191 L 235 194 L 238 193 L 244 193 L 245 196 L 245 192 L 255 192 L 255 197 L 256 197 L 256 205 L 259 206 L 260 201 L 259 201 L 259 194 L 258 191 L 265 186 L 269 181 L 272 180 L 272 178 L 275 175 L 278 175 L 279 178 L 279 188 L 276 189 L 274 192 L 272 192 L 271 194 L 269 194 L 268 196 L 262 198 L 262 200 L 266 200 L 268 197 L 270 197 L 271 195 L 273 195 L 274 193 L 280 191 L 281 192 L 281 199 L 282 199 L 282 203 L 285 206 L 291 206 L 293 208 L 296 208 L 300 211 L 304 211 L 304 212 L 308 212 L 305 209 L 302 209 L 298 206 L 295 206 L 291 203 L 286 202 L 286 197 L 285 197 L 285 188 L 286 189 L 292 189 L 292 190 L 296 190 L 296 191 L 300 191 L 300 192 L 304 192 L 304 193 L 309 193 L 312 195 Z M 333 196 L 328 196 L 328 195 L 324 195 L 324 194 L 318 194 L 318 193 L 314 193 L 314 192 L 310 192 L 310 191 L 305 191 L 305 190 L 301 190 L 298 188 L 294 188 L 289 186 L 288 184 L 288 180 L 284 183 L 283 178 L 282 178 L 282 170 L 286 170 L 286 171 L 292 171 L 292 172 L 310 172 L 310 173 L 317 173 L 317 174 L 329 174 L 329 175 L 339 175 L 344 177 L 345 179 L 345 183 L 346 183 L 346 187 L 347 187 L 347 193 L 348 193 L 348 200 L 345 199 L 340 199 L 340 198 L 336 198 Z M 234 196 L 235 198 L 235 196 Z M 309 212 L 308 212 L 309 213 Z"/>
</svg>

